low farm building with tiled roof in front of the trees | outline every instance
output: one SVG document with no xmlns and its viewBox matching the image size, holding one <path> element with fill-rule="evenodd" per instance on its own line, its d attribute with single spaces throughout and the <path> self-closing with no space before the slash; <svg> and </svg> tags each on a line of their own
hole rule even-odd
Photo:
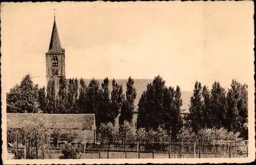
<svg viewBox="0 0 256 165">
<path fill-rule="evenodd" d="M 94 114 L 14 114 L 7 113 L 7 128 L 25 128 L 28 126 L 31 119 L 37 115 L 44 122 L 46 128 L 67 130 L 66 132 L 80 133 L 80 137 L 84 140 L 95 140 L 95 115 Z M 51 140 L 51 147 L 58 148 L 59 144 L 67 143 L 69 140 L 68 134 L 61 134 L 57 141 Z M 71 143 L 77 143 L 76 140 Z"/>
</svg>

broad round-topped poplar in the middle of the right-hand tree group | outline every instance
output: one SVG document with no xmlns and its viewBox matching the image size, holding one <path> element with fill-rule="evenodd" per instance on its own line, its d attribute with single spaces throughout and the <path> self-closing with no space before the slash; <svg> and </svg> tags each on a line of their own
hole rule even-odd
<svg viewBox="0 0 256 165">
<path fill-rule="evenodd" d="M 211 88 L 211 101 L 210 101 L 210 117 L 211 124 L 216 128 L 221 128 L 226 124 L 226 92 L 221 87 L 220 82 L 215 81 Z"/>
</svg>

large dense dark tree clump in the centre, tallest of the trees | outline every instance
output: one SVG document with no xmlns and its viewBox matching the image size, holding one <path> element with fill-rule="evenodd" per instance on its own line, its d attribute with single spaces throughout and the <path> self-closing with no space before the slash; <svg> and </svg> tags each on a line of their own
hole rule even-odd
<svg viewBox="0 0 256 165">
<path fill-rule="evenodd" d="M 180 87 L 167 88 L 165 81 L 159 75 L 142 94 L 138 104 L 138 128 L 156 130 L 160 125 L 173 137 L 176 137 L 182 126 L 180 111 L 182 106 Z M 172 131 L 170 131 L 172 130 Z"/>
</svg>

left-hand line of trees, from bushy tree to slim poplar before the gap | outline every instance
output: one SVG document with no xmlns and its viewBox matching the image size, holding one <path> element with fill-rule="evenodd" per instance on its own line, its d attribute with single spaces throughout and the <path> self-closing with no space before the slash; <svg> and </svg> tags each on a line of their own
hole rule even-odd
<svg viewBox="0 0 256 165">
<path fill-rule="evenodd" d="M 80 86 L 78 86 L 78 83 Z M 39 110 L 49 114 L 95 114 L 96 125 L 114 121 L 121 111 L 120 123 L 131 122 L 134 112 L 136 89 L 134 80 L 129 77 L 126 93 L 122 85 L 112 80 L 112 91 L 109 90 L 110 80 L 106 77 L 100 85 L 92 79 L 86 85 L 84 79 L 59 80 L 59 90 L 55 94 L 55 82 L 50 80 L 47 88 L 34 85 L 30 74 L 26 75 L 20 85 L 14 86 L 7 93 L 8 113 L 35 113 Z"/>
</svg>

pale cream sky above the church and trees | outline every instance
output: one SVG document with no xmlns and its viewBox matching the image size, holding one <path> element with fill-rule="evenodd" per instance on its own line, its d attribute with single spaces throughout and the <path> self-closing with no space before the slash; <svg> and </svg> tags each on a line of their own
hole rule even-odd
<svg viewBox="0 0 256 165">
<path fill-rule="evenodd" d="M 182 91 L 193 91 L 196 80 L 254 83 L 253 2 L 4 3 L 4 92 L 28 73 L 46 85 L 53 9 L 67 78 L 159 74 Z"/>
</svg>

